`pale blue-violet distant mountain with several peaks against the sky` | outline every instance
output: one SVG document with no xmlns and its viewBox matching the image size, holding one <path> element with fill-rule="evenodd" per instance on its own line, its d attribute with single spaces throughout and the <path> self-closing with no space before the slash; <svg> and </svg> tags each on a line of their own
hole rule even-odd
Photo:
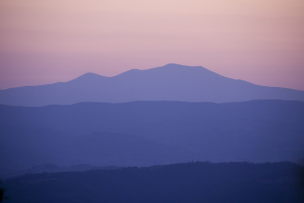
<svg viewBox="0 0 304 203">
<path fill-rule="evenodd" d="M 253 99 L 304 100 L 304 91 L 255 85 L 223 77 L 202 66 L 174 63 L 133 69 L 113 77 L 87 73 L 68 82 L 0 90 L 0 104 L 14 106 L 136 100 L 227 103 Z"/>
</svg>

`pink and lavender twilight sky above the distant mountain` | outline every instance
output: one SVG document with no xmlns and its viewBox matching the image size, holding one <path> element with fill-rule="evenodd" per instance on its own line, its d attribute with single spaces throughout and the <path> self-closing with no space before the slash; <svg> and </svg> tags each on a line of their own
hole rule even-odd
<svg viewBox="0 0 304 203">
<path fill-rule="evenodd" d="M 0 1 L 0 89 L 167 63 L 304 90 L 304 1 Z"/>
</svg>

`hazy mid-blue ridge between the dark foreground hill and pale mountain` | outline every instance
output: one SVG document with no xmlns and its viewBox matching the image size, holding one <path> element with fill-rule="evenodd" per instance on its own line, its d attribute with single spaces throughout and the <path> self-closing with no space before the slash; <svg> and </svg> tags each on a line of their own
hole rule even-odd
<svg viewBox="0 0 304 203">
<path fill-rule="evenodd" d="M 304 155 L 302 101 L 0 105 L 0 115 L 0 170 L 44 163 L 299 162 Z"/>
</svg>

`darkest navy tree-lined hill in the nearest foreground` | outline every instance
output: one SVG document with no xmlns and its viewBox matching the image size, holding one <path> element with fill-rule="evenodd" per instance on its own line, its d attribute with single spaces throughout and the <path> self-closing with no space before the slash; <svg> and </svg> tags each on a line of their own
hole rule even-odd
<svg viewBox="0 0 304 203">
<path fill-rule="evenodd" d="M 4 202 L 303 202 L 290 162 L 191 162 L 24 175 L 4 182 Z"/>
</svg>

